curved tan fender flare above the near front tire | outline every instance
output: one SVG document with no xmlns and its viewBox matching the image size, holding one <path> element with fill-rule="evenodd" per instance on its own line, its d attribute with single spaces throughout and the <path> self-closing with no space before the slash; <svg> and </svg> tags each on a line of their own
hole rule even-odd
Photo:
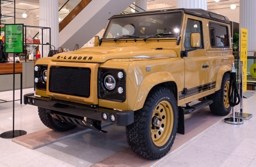
<svg viewBox="0 0 256 167">
<path fill-rule="evenodd" d="M 159 83 L 170 81 L 175 82 L 175 79 L 173 78 L 172 74 L 168 72 L 153 73 L 145 77 L 140 84 L 133 111 L 139 110 L 143 107 L 148 93 L 154 86 L 158 85 Z"/>
</svg>

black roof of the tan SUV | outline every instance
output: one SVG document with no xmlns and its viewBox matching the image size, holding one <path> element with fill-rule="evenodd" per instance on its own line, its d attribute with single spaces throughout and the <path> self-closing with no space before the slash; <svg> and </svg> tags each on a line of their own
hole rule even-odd
<svg viewBox="0 0 256 167">
<path fill-rule="evenodd" d="M 230 24 L 230 21 L 227 17 L 223 16 L 223 15 L 219 15 L 217 13 L 213 13 L 211 11 L 207 11 L 207 10 L 202 10 L 202 9 L 185 9 L 185 8 L 178 8 L 178 9 L 170 9 L 170 10 L 154 10 L 154 11 L 145 11 L 145 12 L 140 12 L 140 13 L 129 13 L 129 14 L 125 14 L 125 16 L 127 15 L 145 15 L 145 13 L 165 13 L 168 11 L 184 11 L 184 13 L 187 13 L 188 15 L 194 15 L 196 17 L 202 17 L 202 18 L 208 18 L 211 20 L 216 20 L 219 22 L 225 22 L 227 24 Z M 115 15 L 113 17 L 116 16 L 124 16 L 124 15 Z M 111 17 L 112 18 L 112 17 Z"/>
</svg>

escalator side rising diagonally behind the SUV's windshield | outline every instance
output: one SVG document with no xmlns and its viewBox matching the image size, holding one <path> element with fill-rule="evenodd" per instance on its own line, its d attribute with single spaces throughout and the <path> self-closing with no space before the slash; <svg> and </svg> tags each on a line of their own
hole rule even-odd
<svg viewBox="0 0 256 167">
<path fill-rule="evenodd" d="M 59 24 L 59 43 L 73 50 L 104 29 L 108 18 L 122 13 L 134 0 L 81 0 Z"/>
</svg>

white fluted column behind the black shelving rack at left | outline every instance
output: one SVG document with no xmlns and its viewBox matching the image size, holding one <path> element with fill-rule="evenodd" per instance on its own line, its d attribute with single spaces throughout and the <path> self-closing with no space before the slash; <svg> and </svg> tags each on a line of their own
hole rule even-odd
<svg viewBox="0 0 256 167">
<path fill-rule="evenodd" d="M 59 47 L 59 1 L 40 0 L 39 2 L 39 26 L 51 27 L 51 45 Z M 41 32 L 40 32 L 41 34 Z M 49 42 L 50 33 L 44 30 L 44 43 Z M 42 43 L 42 39 L 40 39 Z M 41 50 L 42 52 L 42 50 Z M 49 46 L 44 47 L 44 57 L 47 57 Z M 42 53 L 41 53 L 42 54 Z"/>
</svg>

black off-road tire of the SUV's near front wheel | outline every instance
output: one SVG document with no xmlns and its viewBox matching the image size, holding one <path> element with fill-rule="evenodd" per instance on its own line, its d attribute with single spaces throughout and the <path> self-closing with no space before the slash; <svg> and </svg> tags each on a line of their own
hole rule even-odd
<svg viewBox="0 0 256 167">
<path fill-rule="evenodd" d="M 166 112 L 166 120 L 161 120 L 161 122 L 165 121 L 166 127 L 172 128 L 170 128 L 170 130 L 168 130 L 167 128 L 163 130 L 163 134 L 164 131 L 168 131 L 170 137 L 165 137 L 164 142 L 160 146 L 157 146 L 156 142 L 158 141 L 153 141 L 156 140 L 156 137 L 154 137 L 155 134 L 152 136 L 152 131 L 154 131 L 152 130 L 152 114 L 156 114 L 157 108 L 159 108 L 162 103 L 167 104 L 166 106 L 170 106 L 170 110 L 172 110 L 172 113 Z M 166 111 L 170 111 L 168 109 L 169 108 L 167 108 Z M 173 118 L 168 119 L 168 117 L 170 116 L 168 116 L 168 114 L 172 115 Z M 159 159 L 165 156 L 166 153 L 171 149 L 173 141 L 175 140 L 178 127 L 178 117 L 179 112 L 177 107 L 177 101 L 174 98 L 173 93 L 169 89 L 157 87 L 156 89 L 150 91 L 150 94 L 148 94 L 143 108 L 134 112 L 134 123 L 126 126 L 127 142 L 133 152 L 147 159 Z M 170 126 L 171 124 L 172 126 Z M 161 135 L 159 134 L 159 136 Z"/>
</svg>

